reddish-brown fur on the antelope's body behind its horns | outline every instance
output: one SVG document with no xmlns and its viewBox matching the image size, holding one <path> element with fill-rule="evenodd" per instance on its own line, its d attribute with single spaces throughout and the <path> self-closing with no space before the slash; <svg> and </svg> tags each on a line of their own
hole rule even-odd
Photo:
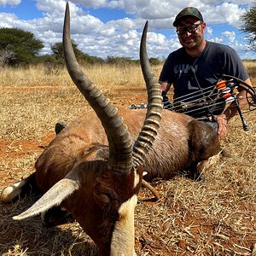
<svg viewBox="0 0 256 256">
<path fill-rule="evenodd" d="M 119 114 L 123 116 L 124 123 L 135 140 L 143 125 L 145 110 L 119 108 Z M 76 162 L 88 159 L 94 143 L 108 147 L 102 125 L 96 114 L 90 111 L 61 131 L 39 157 L 36 168 L 43 165 L 37 174 L 38 183 L 44 183 L 40 185 L 41 189 L 49 189 Z M 210 125 L 181 113 L 163 110 L 158 136 L 145 160 L 144 167 L 148 172 L 145 178 L 168 179 L 184 170 L 195 172 L 197 163 L 207 160 L 219 151 L 217 133 Z M 61 170 L 61 173 L 56 170 Z"/>
</svg>

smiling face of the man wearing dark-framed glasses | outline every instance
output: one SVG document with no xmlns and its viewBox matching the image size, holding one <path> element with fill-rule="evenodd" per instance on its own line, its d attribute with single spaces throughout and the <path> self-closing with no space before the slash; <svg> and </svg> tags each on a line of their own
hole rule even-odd
<svg viewBox="0 0 256 256">
<path fill-rule="evenodd" d="M 204 40 L 206 24 L 193 16 L 187 16 L 177 25 L 177 37 L 185 49 L 196 49 Z"/>
</svg>

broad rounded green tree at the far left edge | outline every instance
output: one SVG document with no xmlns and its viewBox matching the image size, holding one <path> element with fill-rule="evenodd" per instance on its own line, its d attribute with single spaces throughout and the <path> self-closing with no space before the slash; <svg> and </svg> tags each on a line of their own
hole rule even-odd
<svg viewBox="0 0 256 256">
<path fill-rule="evenodd" d="M 36 39 L 32 32 L 18 28 L 0 28 L 0 49 L 3 52 L 12 52 L 7 64 L 29 64 L 44 48 L 41 40 Z"/>
</svg>

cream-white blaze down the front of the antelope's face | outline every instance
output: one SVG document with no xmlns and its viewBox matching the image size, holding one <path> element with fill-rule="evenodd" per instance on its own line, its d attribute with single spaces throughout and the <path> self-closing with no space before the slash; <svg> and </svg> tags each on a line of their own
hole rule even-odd
<svg viewBox="0 0 256 256">
<path fill-rule="evenodd" d="M 137 195 L 133 195 L 119 208 L 119 221 L 113 229 L 111 256 L 135 256 L 134 250 L 134 209 Z"/>
</svg>

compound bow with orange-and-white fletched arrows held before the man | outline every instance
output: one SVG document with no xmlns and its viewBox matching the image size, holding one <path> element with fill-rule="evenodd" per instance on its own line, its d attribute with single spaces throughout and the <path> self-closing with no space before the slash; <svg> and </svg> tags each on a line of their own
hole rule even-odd
<svg viewBox="0 0 256 256">
<path fill-rule="evenodd" d="M 243 117 L 241 108 L 237 99 L 237 89 L 242 89 L 246 91 L 246 99 L 248 110 L 253 111 L 256 109 L 256 90 L 250 84 L 238 79 L 234 76 L 223 75 L 221 79 L 218 80 L 218 83 L 213 85 L 212 88 L 203 89 L 198 92 L 193 92 L 183 98 L 176 99 L 177 102 L 170 102 L 169 100 L 163 102 L 164 108 L 169 109 L 178 113 L 186 113 L 193 116 L 193 113 L 201 115 L 202 113 L 208 113 L 208 115 L 213 117 L 211 108 L 215 110 L 224 111 L 223 104 L 224 102 L 230 102 L 234 104 L 237 109 L 237 112 L 241 118 L 242 127 L 244 131 L 248 131 L 249 127 Z M 201 98 L 200 101 L 190 101 L 194 96 Z M 132 104 L 130 108 L 147 108 L 147 104 Z M 201 119 L 197 118 L 196 119 Z M 205 119 L 205 118 L 204 118 Z"/>
</svg>

